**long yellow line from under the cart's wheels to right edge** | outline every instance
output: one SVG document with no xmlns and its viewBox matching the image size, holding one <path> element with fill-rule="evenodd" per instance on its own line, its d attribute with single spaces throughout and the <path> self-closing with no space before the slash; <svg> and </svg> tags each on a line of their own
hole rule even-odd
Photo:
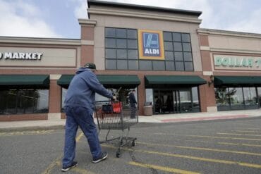
<svg viewBox="0 0 261 174">
<path fill-rule="evenodd" d="M 116 148 L 107 144 L 102 144 L 103 147 L 110 147 L 110 148 Z M 128 149 L 128 148 L 122 148 L 127 151 L 133 151 L 133 149 Z M 159 151 L 146 151 L 146 150 L 139 150 L 135 149 L 135 152 L 142 152 L 146 154 L 157 154 L 157 155 L 162 155 L 162 156 L 171 156 L 171 157 L 176 157 L 176 158 L 181 158 L 181 159 L 192 159 L 196 161 L 206 161 L 206 162 L 212 162 L 212 163 L 224 163 L 224 164 L 231 164 L 231 165 L 239 165 L 239 166 L 245 166 L 249 168 L 261 168 L 261 164 L 255 164 L 255 163 L 241 163 L 238 161 L 228 161 L 228 160 L 221 160 L 221 159 L 207 159 L 207 158 L 202 158 L 198 156 L 188 156 L 188 155 L 181 155 L 181 154 L 169 154 L 169 153 L 164 153 L 164 152 L 159 152 Z"/>
</svg>

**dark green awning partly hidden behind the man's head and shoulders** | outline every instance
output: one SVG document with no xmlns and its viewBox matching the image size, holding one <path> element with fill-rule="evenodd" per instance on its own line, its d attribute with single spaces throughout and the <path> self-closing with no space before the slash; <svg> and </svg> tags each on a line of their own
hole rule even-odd
<svg viewBox="0 0 261 174">
<path fill-rule="evenodd" d="M 67 88 L 74 75 L 61 75 L 57 84 Z M 140 79 L 137 75 L 97 75 L 99 82 L 104 87 L 128 87 L 135 88 L 140 85 Z"/>
</svg>

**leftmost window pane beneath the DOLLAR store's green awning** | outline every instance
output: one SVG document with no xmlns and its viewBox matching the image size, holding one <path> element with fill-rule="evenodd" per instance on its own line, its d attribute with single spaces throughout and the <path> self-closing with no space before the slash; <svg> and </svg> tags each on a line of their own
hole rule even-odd
<svg viewBox="0 0 261 174">
<path fill-rule="evenodd" d="M 215 88 L 215 96 L 217 106 L 229 106 L 229 88 L 218 87 Z"/>
</svg>

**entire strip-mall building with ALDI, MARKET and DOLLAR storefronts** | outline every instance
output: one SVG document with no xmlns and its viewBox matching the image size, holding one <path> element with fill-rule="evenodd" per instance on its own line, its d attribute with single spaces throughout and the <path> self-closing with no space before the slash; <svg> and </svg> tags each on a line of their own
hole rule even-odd
<svg viewBox="0 0 261 174">
<path fill-rule="evenodd" d="M 139 114 L 260 108 L 261 35 L 200 29 L 199 11 L 88 1 L 80 39 L 0 37 L 0 120 L 65 118 L 75 70 L 95 63 L 99 81 Z M 97 95 L 98 100 L 104 100 Z"/>
</svg>

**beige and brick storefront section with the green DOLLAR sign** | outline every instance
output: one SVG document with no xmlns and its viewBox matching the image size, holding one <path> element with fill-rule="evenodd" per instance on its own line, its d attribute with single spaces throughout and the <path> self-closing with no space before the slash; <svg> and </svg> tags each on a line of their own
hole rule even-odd
<svg viewBox="0 0 261 174">
<path fill-rule="evenodd" d="M 198 34 L 217 111 L 260 108 L 261 35 L 208 29 Z"/>
</svg>

